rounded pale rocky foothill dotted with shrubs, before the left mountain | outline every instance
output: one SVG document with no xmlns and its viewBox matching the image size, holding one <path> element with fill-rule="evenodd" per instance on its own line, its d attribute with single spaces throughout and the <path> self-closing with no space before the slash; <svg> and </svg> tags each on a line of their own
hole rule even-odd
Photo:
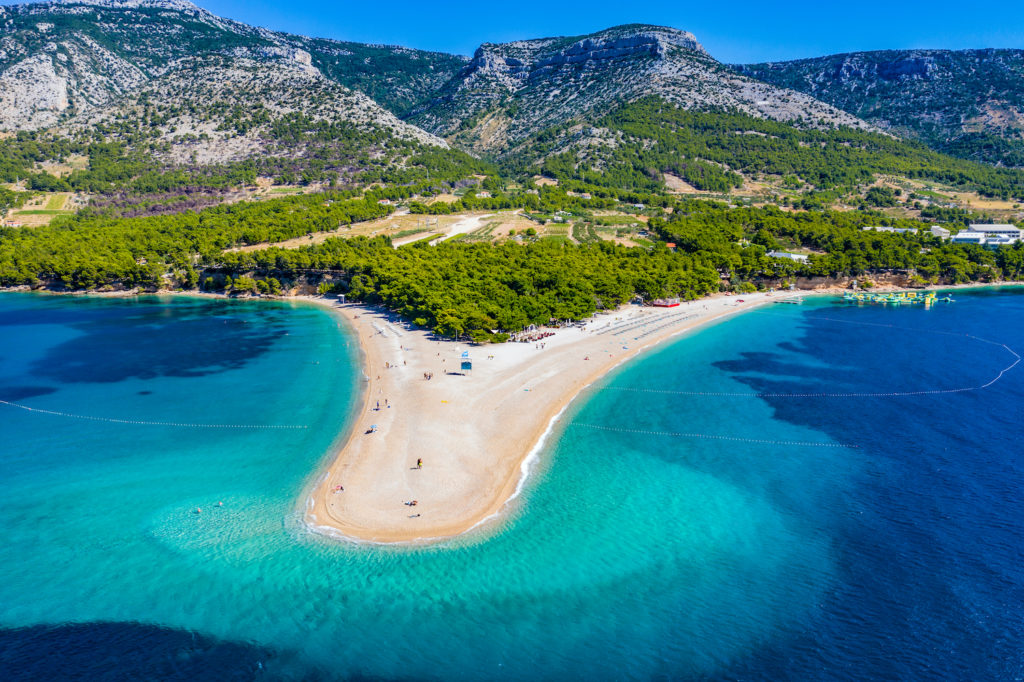
<svg viewBox="0 0 1024 682">
<path fill-rule="evenodd" d="M 58 131 L 98 132 L 134 147 L 147 144 L 170 166 L 257 155 L 296 158 L 328 141 L 319 134 L 325 131 L 346 132 L 368 145 L 394 138 L 447 146 L 309 65 L 245 57 L 179 59 L 115 105 L 72 118 Z"/>
</svg>

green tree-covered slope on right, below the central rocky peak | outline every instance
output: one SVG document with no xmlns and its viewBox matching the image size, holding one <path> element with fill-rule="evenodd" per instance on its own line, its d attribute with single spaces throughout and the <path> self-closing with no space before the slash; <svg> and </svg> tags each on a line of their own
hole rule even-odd
<svg viewBox="0 0 1024 682">
<path fill-rule="evenodd" d="M 987 197 L 1024 198 L 1024 171 L 852 128 L 817 130 L 734 112 L 692 112 L 658 97 L 625 104 L 594 125 L 610 131 L 614 143 L 570 144 L 543 158 L 542 172 L 559 180 L 648 193 L 665 189 L 664 173 L 717 193 L 739 186 L 737 173 L 799 178 L 819 189 L 853 187 L 890 174 L 969 187 Z M 537 150 L 555 148 L 554 140 L 563 137 L 567 141 L 567 130 L 538 135 Z"/>
</svg>

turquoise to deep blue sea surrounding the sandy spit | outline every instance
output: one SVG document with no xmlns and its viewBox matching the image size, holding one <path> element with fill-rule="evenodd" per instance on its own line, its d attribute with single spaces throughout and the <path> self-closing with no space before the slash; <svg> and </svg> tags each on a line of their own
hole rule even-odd
<svg viewBox="0 0 1024 682">
<path fill-rule="evenodd" d="M 955 298 L 682 338 L 499 527 L 395 549 L 301 524 L 327 311 L 0 295 L 0 678 L 1020 680 L 1024 295 Z"/>
</svg>

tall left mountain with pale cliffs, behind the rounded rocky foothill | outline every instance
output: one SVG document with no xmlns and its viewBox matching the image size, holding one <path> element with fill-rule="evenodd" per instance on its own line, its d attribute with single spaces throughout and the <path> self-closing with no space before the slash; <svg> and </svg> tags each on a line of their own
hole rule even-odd
<svg viewBox="0 0 1024 682">
<path fill-rule="evenodd" d="M 312 69 L 401 113 L 464 57 L 312 39 L 220 18 L 184 0 L 59 0 L 0 7 L 0 130 L 39 129 L 137 91 L 184 58 Z"/>
</svg>

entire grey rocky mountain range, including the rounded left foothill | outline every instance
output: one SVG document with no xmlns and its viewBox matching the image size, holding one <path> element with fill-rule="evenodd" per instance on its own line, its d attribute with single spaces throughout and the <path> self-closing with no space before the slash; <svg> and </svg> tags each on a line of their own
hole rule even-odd
<svg viewBox="0 0 1024 682">
<path fill-rule="evenodd" d="M 444 140 L 506 165 L 570 148 L 606 156 L 629 137 L 607 117 L 649 98 L 803 130 L 883 129 L 1024 165 L 1022 77 L 1019 50 L 728 67 L 692 34 L 647 25 L 487 43 L 469 58 L 268 31 L 185 0 L 0 7 L 0 133 L 98 132 L 163 168 L 269 156 L 314 159 L 317 176 L 344 176 L 401 166 L 377 163 L 382 148 L 395 150 L 394 161 L 413 154 L 398 147 Z M 378 145 L 381 135 L 394 143 Z M 270 170 L 291 177 L 308 168 Z"/>
</svg>

